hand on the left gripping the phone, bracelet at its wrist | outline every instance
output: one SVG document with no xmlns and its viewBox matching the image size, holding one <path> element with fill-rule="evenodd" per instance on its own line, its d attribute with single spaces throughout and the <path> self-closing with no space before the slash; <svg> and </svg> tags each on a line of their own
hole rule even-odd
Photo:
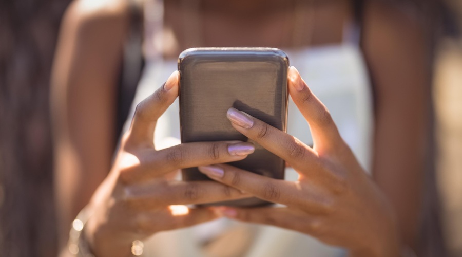
<svg viewBox="0 0 462 257">
<path fill-rule="evenodd" d="M 168 178 L 178 169 L 242 160 L 254 151 L 253 144 L 240 141 L 183 143 L 155 150 L 156 121 L 178 97 L 178 77 L 175 71 L 138 104 L 113 167 L 90 200 L 87 208 L 92 215 L 83 232 L 96 256 L 130 256 L 134 240 L 218 217 L 211 209 L 182 205 L 250 196 L 215 181 Z"/>
</svg>

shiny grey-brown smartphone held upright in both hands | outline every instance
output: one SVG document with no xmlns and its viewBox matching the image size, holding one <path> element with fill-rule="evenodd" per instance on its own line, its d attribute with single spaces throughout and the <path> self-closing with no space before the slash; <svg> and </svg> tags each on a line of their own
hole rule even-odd
<svg viewBox="0 0 462 257">
<path fill-rule="evenodd" d="M 276 48 L 191 48 L 178 58 L 181 141 L 241 140 L 255 152 L 228 164 L 277 179 L 284 160 L 236 131 L 226 118 L 230 107 L 286 131 L 287 55 Z M 209 180 L 197 168 L 182 170 L 183 180 Z M 238 207 L 270 204 L 258 198 L 212 205 Z"/>
</svg>

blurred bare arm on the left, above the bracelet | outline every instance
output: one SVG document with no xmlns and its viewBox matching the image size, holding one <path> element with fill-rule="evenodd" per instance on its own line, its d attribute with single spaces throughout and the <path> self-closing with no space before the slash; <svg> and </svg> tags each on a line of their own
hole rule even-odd
<svg viewBox="0 0 462 257">
<path fill-rule="evenodd" d="M 110 169 L 115 84 L 126 12 L 74 1 L 63 18 L 51 74 L 51 118 L 60 246 L 70 224 Z M 117 8 L 115 8 L 117 7 Z"/>
</svg>

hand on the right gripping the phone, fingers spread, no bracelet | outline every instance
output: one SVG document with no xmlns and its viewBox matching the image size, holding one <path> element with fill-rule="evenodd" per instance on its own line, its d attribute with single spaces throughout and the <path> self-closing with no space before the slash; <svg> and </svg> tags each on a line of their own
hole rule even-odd
<svg viewBox="0 0 462 257">
<path fill-rule="evenodd" d="M 286 208 L 219 207 L 216 211 L 310 234 L 348 248 L 354 256 L 398 256 L 397 225 L 388 200 L 364 173 L 329 111 L 294 67 L 289 78 L 291 97 L 310 124 L 313 148 L 234 108 L 227 116 L 237 131 L 286 160 L 299 173 L 298 181 L 268 178 L 225 164 L 199 168 L 225 185 Z"/>
</svg>

